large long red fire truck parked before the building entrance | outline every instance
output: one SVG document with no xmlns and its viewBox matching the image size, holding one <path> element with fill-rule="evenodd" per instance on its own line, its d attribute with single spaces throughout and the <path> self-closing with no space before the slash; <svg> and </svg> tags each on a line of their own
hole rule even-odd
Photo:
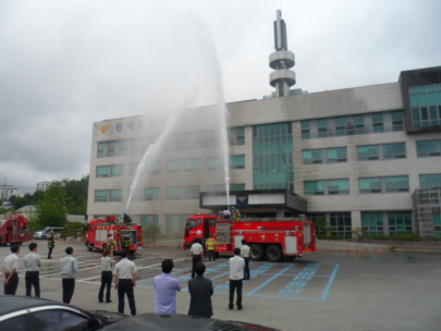
<svg viewBox="0 0 441 331">
<path fill-rule="evenodd" d="M 250 247 L 250 259 L 259 261 L 265 257 L 272 262 L 294 259 L 302 254 L 316 252 L 314 223 L 299 216 L 296 219 L 243 219 L 240 222 L 223 220 L 216 216 L 195 213 L 187 219 L 184 234 L 184 249 L 196 238 L 205 241 L 212 234 L 218 254 L 232 254 L 246 240 Z"/>
</svg>

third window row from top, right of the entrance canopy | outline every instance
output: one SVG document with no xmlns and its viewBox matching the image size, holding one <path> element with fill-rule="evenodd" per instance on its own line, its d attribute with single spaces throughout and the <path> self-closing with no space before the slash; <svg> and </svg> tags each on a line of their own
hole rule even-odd
<svg viewBox="0 0 441 331">
<path fill-rule="evenodd" d="M 419 175 L 419 188 L 441 187 L 441 174 Z M 358 179 L 359 194 L 408 192 L 408 176 Z M 305 195 L 350 194 L 350 180 L 321 180 L 304 182 Z"/>
</svg>

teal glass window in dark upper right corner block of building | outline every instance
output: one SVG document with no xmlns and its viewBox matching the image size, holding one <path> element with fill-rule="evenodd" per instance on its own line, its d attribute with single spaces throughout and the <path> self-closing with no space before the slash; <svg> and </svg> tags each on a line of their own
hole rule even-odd
<svg viewBox="0 0 441 331">
<path fill-rule="evenodd" d="M 441 84 L 411 87 L 409 95 L 414 126 L 440 125 Z"/>
</svg>

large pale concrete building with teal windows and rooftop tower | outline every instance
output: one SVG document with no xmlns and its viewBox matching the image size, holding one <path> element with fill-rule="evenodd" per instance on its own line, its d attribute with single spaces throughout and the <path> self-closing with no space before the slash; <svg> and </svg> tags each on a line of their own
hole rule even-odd
<svg viewBox="0 0 441 331">
<path fill-rule="evenodd" d="M 294 54 L 286 51 L 280 20 L 274 22 L 274 38 L 282 35 L 281 47 L 269 60 L 275 70 L 270 76 L 277 88 L 273 97 L 228 105 L 234 123 L 232 194 L 287 189 L 307 201 L 301 204 L 307 210 L 298 212 L 327 220 L 333 233 L 343 236 L 359 226 L 370 235 L 441 236 L 441 66 L 402 71 L 397 82 L 388 84 L 309 94 L 290 90 L 295 84 L 289 70 Z M 94 123 L 89 219 L 124 210 L 134 169 L 160 134 L 155 127 L 143 128 L 144 120 Z M 183 125 L 175 134 L 181 145 L 163 150 L 128 210 L 137 222 L 157 223 L 167 232 L 183 231 L 188 214 L 210 212 L 200 208 L 201 193 L 223 187 L 219 180 L 210 182 L 219 162 L 207 133 Z M 281 209 L 282 203 L 268 208 L 260 204 L 249 213 L 295 214 L 293 208 Z"/>
</svg>

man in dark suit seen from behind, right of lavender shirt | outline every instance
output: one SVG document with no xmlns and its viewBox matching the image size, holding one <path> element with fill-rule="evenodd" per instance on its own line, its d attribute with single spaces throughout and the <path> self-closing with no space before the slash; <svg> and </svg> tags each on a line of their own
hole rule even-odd
<svg viewBox="0 0 441 331">
<path fill-rule="evenodd" d="M 215 292 L 210 279 L 205 278 L 205 265 L 197 262 L 195 266 L 196 277 L 188 281 L 191 295 L 188 315 L 211 317 L 211 295 Z"/>
</svg>

